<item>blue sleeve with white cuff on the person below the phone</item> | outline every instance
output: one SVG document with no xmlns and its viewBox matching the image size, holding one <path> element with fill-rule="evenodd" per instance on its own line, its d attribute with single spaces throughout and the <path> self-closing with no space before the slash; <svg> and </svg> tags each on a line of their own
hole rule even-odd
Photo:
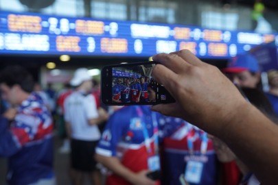
<svg viewBox="0 0 278 185">
<path fill-rule="evenodd" d="M 118 110 L 106 123 L 96 153 L 104 156 L 116 156 L 117 144 L 128 130 L 129 119 L 125 111 Z"/>
</svg>

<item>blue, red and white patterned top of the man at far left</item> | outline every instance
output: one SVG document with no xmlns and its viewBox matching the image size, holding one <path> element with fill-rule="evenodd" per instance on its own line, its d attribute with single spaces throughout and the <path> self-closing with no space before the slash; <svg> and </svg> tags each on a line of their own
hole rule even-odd
<svg viewBox="0 0 278 185">
<path fill-rule="evenodd" d="M 53 122 L 42 99 L 33 93 L 21 103 L 9 126 L 0 117 L 0 157 L 8 157 L 8 184 L 31 184 L 53 177 Z"/>
</svg>

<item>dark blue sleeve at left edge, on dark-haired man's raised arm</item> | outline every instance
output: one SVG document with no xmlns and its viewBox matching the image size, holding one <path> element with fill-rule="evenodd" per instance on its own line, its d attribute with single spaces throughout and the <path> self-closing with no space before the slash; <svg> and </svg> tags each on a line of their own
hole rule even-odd
<svg viewBox="0 0 278 185">
<path fill-rule="evenodd" d="M 8 119 L 0 116 L 0 157 L 9 157 L 19 151 L 14 135 L 8 127 Z"/>
</svg>

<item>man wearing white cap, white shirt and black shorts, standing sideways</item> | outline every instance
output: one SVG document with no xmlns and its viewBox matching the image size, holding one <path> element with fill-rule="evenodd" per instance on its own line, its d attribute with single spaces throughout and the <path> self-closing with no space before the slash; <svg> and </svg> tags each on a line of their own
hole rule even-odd
<svg viewBox="0 0 278 185">
<path fill-rule="evenodd" d="M 100 139 L 97 124 L 108 119 L 104 111 L 97 111 L 91 76 L 85 68 L 77 69 L 70 82 L 75 90 L 65 99 L 65 121 L 71 138 L 71 175 L 73 184 L 82 184 L 82 175 L 89 174 L 92 184 L 101 184 L 95 169 L 95 145 Z"/>
</svg>

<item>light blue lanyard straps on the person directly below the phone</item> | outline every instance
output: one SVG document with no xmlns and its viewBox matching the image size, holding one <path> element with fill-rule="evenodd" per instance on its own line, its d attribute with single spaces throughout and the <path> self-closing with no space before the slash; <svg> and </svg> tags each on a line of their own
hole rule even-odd
<svg viewBox="0 0 278 185">
<path fill-rule="evenodd" d="M 143 120 L 143 112 L 139 106 L 136 106 L 136 112 L 140 119 Z M 148 151 L 148 154 L 152 154 L 152 149 L 150 147 L 150 136 L 148 134 L 148 130 L 146 127 L 146 123 L 144 121 L 141 122 L 142 125 L 142 131 L 143 131 L 143 137 L 144 137 L 144 142 L 146 145 L 146 149 Z M 158 148 L 159 148 L 159 129 L 158 129 L 158 123 L 157 123 L 157 115 L 152 112 L 152 125 L 154 127 L 153 134 L 154 134 L 154 153 L 158 153 Z"/>
</svg>

